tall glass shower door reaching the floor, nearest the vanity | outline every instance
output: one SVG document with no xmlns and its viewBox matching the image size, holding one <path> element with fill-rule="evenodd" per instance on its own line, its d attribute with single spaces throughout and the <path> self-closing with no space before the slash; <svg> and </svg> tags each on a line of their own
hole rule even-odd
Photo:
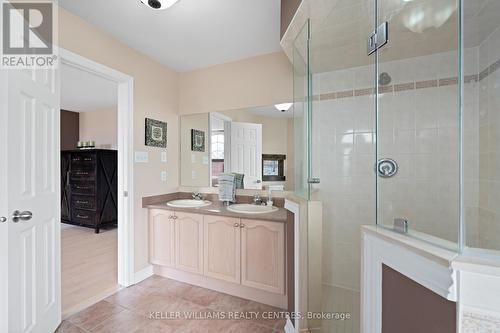
<svg viewBox="0 0 500 333">
<path fill-rule="evenodd" d="M 309 266 L 321 268 L 310 272 L 309 309 L 339 317 L 308 324 L 312 332 L 357 333 L 360 227 L 375 223 L 376 71 L 366 52 L 375 1 L 328 3 L 322 23 L 310 25 L 308 47 L 309 175 L 320 179 L 309 196 L 323 210 L 321 223 L 309 228 L 319 232 L 308 235 Z"/>
</svg>

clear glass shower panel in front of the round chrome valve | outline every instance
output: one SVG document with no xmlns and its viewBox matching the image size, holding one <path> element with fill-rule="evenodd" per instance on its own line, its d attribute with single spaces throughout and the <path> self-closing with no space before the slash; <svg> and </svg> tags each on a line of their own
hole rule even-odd
<svg viewBox="0 0 500 333">
<path fill-rule="evenodd" d="M 456 249 L 460 217 L 459 1 L 378 0 L 379 225 Z M 392 173 L 394 171 L 394 173 Z"/>
</svg>

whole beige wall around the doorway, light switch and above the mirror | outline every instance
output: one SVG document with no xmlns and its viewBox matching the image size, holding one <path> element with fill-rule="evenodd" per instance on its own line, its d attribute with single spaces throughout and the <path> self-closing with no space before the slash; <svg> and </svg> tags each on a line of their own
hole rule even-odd
<svg viewBox="0 0 500 333">
<path fill-rule="evenodd" d="M 281 52 L 175 73 L 107 33 L 59 8 L 59 44 L 74 53 L 134 77 L 134 149 L 149 152 L 149 163 L 134 166 L 135 270 L 148 265 L 147 211 L 144 196 L 179 188 L 179 113 L 206 113 L 272 105 L 293 98 L 293 73 Z M 144 118 L 168 123 L 168 163 L 161 149 L 145 147 Z M 167 171 L 167 182 L 160 181 Z"/>
</svg>

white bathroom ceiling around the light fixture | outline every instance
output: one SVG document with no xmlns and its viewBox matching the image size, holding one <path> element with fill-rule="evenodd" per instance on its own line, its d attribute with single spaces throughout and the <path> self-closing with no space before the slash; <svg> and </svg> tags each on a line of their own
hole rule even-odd
<svg viewBox="0 0 500 333">
<path fill-rule="evenodd" d="M 160 11 L 139 0 L 59 4 L 178 72 L 281 49 L 280 0 L 180 0 Z"/>
</svg>

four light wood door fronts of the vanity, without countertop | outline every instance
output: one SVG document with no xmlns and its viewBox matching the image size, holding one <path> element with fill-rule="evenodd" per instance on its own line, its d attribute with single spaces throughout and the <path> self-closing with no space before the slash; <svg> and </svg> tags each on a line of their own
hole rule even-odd
<svg viewBox="0 0 500 333">
<path fill-rule="evenodd" d="M 285 294 L 284 223 L 151 209 L 149 233 L 152 264 Z"/>
</svg>

